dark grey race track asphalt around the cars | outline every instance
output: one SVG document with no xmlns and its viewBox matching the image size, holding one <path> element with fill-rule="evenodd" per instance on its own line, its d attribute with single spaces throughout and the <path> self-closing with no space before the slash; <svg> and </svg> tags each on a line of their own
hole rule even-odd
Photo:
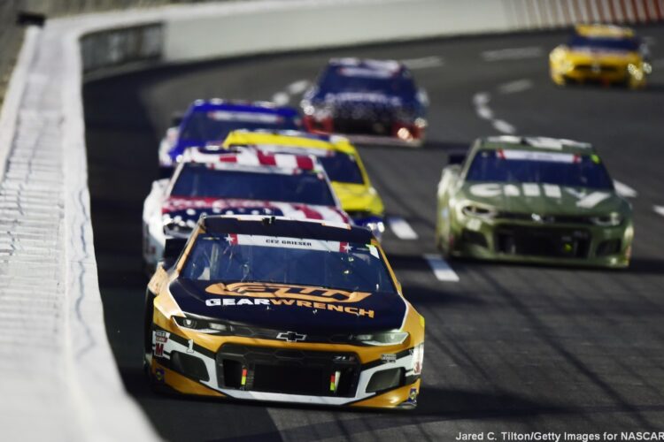
<svg viewBox="0 0 664 442">
<path fill-rule="evenodd" d="M 171 440 L 452 440 L 459 432 L 602 433 L 664 429 L 664 27 L 641 33 L 654 72 L 645 91 L 556 88 L 547 54 L 565 33 L 392 43 L 246 57 L 127 73 L 84 86 L 89 187 L 108 336 L 127 391 Z M 141 213 L 171 114 L 200 97 L 269 100 L 313 80 L 329 57 L 410 60 L 429 92 L 422 149 L 361 147 L 390 215 L 384 246 L 427 320 L 423 385 L 411 412 L 230 403 L 157 395 L 141 370 Z M 488 94 L 492 118 L 480 118 Z M 282 95 L 283 96 L 283 95 Z M 289 97 L 289 95 L 286 95 Z M 290 96 L 297 104 L 298 96 Z M 452 260 L 435 278 L 436 184 L 447 153 L 478 136 L 517 133 L 594 143 L 637 195 L 627 271 Z M 500 440 L 500 438 L 498 438 Z"/>
</svg>

